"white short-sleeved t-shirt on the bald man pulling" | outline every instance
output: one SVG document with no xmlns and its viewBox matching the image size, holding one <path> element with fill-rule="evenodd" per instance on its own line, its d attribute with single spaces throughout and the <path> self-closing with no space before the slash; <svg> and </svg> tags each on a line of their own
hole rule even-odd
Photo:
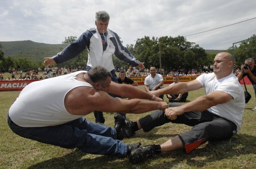
<svg viewBox="0 0 256 169">
<path fill-rule="evenodd" d="M 210 107 L 208 111 L 234 122 L 237 126 L 237 131 L 239 131 L 242 124 L 245 101 L 244 90 L 237 77 L 230 73 L 229 76 L 216 79 L 215 73 L 208 73 L 198 76 L 196 80 L 205 88 L 206 94 L 219 90 L 233 97 L 227 103 Z"/>
</svg>

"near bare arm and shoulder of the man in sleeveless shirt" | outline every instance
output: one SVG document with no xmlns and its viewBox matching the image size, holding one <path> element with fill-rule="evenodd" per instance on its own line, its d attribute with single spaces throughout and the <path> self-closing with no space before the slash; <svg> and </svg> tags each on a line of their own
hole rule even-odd
<svg viewBox="0 0 256 169">
<path fill-rule="evenodd" d="M 93 110 L 138 114 L 151 110 L 165 109 L 168 104 L 164 101 L 123 100 L 113 98 L 108 93 L 102 90 L 95 90 L 92 87 L 77 87 L 65 97 L 65 107 L 73 115 L 86 115 Z"/>
</svg>

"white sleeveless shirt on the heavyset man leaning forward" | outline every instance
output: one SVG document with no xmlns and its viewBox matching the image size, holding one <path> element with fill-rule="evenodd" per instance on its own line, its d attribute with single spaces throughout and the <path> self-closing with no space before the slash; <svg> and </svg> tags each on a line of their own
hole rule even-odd
<svg viewBox="0 0 256 169">
<path fill-rule="evenodd" d="M 9 109 L 10 118 L 20 127 L 45 127 L 82 117 L 83 115 L 67 112 L 64 99 L 66 94 L 76 87 L 93 87 L 87 82 L 76 80 L 79 73 L 86 72 L 78 71 L 30 83 L 24 87 Z"/>
</svg>

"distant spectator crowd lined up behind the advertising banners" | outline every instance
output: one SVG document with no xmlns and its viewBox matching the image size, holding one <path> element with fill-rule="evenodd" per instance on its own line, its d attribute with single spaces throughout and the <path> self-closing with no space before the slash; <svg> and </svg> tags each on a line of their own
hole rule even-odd
<svg viewBox="0 0 256 169">
<path fill-rule="evenodd" d="M 38 69 L 31 69 L 26 71 L 25 75 L 23 74 L 22 69 L 15 69 L 15 68 L 9 68 L 7 72 L 9 72 L 11 77 L 8 77 L 7 79 L 4 79 L 3 75 L 6 73 L 6 70 L 3 68 L 0 72 L 0 80 L 38 80 L 38 79 L 48 79 L 56 76 L 61 76 L 69 73 L 73 73 L 79 70 L 85 70 L 84 67 L 79 66 L 78 68 L 59 68 L 59 67 L 53 67 L 49 66 L 48 68 L 44 68 L 42 70 L 41 68 Z M 132 67 L 131 65 L 128 68 L 116 68 L 116 72 L 120 72 L 121 70 L 126 72 L 126 76 L 128 77 L 136 77 L 136 76 L 148 76 L 149 69 L 145 68 L 144 70 L 139 70 L 137 67 Z M 199 76 L 201 74 L 205 73 L 212 73 L 213 71 L 213 65 L 204 65 L 199 66 L 199 68 L 193 68 L 193 69 L 184 69 L 180 66 L 178 68 L 170 68 L 170 70 L 165 69 L 156 69 L 157 74 L 161 74 L 162 76 Z M 235 73 L 239 73 L 239 69 L 235 71 Z M 18 77 L 17 77 L 18 75 Z"/>
</svg>

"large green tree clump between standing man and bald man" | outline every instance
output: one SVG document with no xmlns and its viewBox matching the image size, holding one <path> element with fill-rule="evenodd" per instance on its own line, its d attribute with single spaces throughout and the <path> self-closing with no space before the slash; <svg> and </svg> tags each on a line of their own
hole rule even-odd
<svg viewBox="0 0 256 169">
<path fill-rule="evenodd" d="M 132 46 L 129 46 L 130 48 Z M 207 53 L 194 42 L 186 41 L 185 37 L 144 37 L 137 39 L 133 48 L 134 55 L 144 62 L 146 68 L 151 65 L 169 70 L 170 68 L 195 68 L 205 61 Z M 209 64 L 208 62 L 206 64 Z"/>
</svg>

